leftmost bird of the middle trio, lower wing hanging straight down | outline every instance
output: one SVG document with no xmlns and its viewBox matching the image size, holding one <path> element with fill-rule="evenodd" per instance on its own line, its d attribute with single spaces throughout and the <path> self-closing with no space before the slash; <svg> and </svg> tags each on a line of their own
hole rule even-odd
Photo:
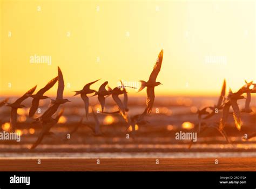
<svg viewBox="0 0 256 189">
<path fill-rule="evenodd" d="M 99 79 L 98 79 L 99 80 Z M 88 83 L 86 84 L 82 90 L 80 91 L 74 91 L 76 92 L 74 96 L 77 96 L 80 94 L 80 97 L 82 98 L 82 100 L 84 101 L 84 106 L 85 106 L 85 117 L 86 120 L 88 120 L 88 115 L 89 115 L 89 98 L 87 97 L 87 94 L 91 94 L 93 92 L 97 92 L 96 90 L 92 90 L 90 89 L 90 86 L 93 83 L 98 82 L 98 80 L 95 80 L 94 82 Z"/>
</svg>

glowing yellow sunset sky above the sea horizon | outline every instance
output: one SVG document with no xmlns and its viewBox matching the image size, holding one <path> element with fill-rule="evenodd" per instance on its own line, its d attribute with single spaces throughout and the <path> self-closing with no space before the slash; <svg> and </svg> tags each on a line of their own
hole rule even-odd
<svg viewBox="0 0 256 189">
<path fill-rule="evenodd" d="M 64 95 L 119 79 L 156 95 L 218 95 L 256 80 L 254 1 L 1 1 L 0 96 L 43 87 L 62 69 Z M 37 90 L 38 90 L 37 89 Z M 55 95 L 57 85 L 47 94 Z M 145 90 L 131 95 L 145 95 Z"/>
</svg>

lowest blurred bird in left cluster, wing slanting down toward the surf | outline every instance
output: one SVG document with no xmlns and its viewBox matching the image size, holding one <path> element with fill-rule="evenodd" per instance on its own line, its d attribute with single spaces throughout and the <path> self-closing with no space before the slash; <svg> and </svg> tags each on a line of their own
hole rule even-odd
<svg viewBox="0 0 256 189">
<path fill-rule="evenodd" d="M 35 149 L 47 135 L 51 135 L 51 128 L 56 125 L 59 121 L 59 118 L 62 116 L 64 109 L 60 110 L 56 118 L 50 117 L 47 122 L 42 122 L 42 131 L 40 132 L 36 142 L 30 147 L 30 150 Z"/>
</svg>

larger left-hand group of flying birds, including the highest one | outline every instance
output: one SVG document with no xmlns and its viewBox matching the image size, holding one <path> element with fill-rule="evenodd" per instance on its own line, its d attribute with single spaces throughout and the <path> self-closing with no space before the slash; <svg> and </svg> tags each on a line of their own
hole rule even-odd
<svg viewBox="0 0 256 189">
<path fill-rule="evenodd" d="M 144 117 L 147 114 L 150 114 L 152 111 L 154 98 L 155 98 L 154 87 L 161 84 L 160 82 L 156 82 L 156 79 L 157 79 L 158 73 L 161 69 L 161 64 L 163 62 L 163 55 L 164 55 L 164 51 L 161 50 L 158 55 L 157 61 L 154 64 L 154 68 L 153 68 L 153 71 L 151 72 L 149 80 L 147 80 L 147 82 L 145 82 L 144 80 L 140 80 L 140 83 L 142 85 L 141 85 L 140 89 L 138 90 L 138 92 L 142 91 L 145 87 L 147 88 L 146 107 L 142 114 L 137 114 L 135 116 L 132 116 L 130 119 L 127 116 L 127 111 L 129 111 L 129 109 L 127 108 L 128 97 L 127 97 L 127 92 L 126 92 L 125 87 L 130 87 L 130 86 L 125 86 L 121 82 L 122 86 L 117 86 L 114 89 L 111 89 L 111 87 L 109 85 L 107 85 L 108 82 L 104 82 L 99 87 L 98 91 L 90 89 L 90 86 L 92 84 L 98 82 L 98 80 L 99 80 L 98 79 L 98 80 L 95 80 L 94 82 L 86 84 L 82 90 L 75 91 L 76 93 L 74 96 L 80 95 L 80 97 L 82 98 L 82 100 L 84 102 L 86 119 L 88 119 L 88 116 L 89 116 L 89 97 L 87 97 L 87 95 L 89 95 L 91 93 L 95 93 L 93 96 L 98 97 L 99 103 L 102 107 L 102 113 L 120 113 L 122 115 L 122 117 L 124 118 L 125 122 L 128 124 L 131 124 L 133 128 L 135 127 L 136 124 L 146 124 L 147 121 L 144 119 Z M 56 99 L 54 99 L 54 100 L 51 99 L 51 104 L 48 107 L 48 109 L 42 114 L 42 116 L 39 116 L 33 120 L 33 123 L 40 123 L 42 125 L 42 131 L 39 134 L 37 141 L 31 146 L 30 149 L 35 149 L 35 147 L 37 147 L 37 145 L 41 143 L 44 136 L 46 136 L 48 134 L 52 134 L 50 132 L 50 129 L 52 126 L 54 126 L 55 124 L 58 123 L 59 118 L 63 114 L 63 109 L 60 110 L 60 112 L 57 114 L 57 116 L 55 118 L 53 118 L 53 114 L 55 114 L 57 112 L 57 110 L 59 109 L 59 106 L 61 104 L 70 102 L 69 99 L 63 98 L 63 91 L 64 91 L 65 85 L 64 85 L 64 78 L 63 78 L 62 71 L 58 67 L 58 76 L 53 78 L 52 80 L 50 80 L 50 82 L 48 84 L 46 84 L 41 90 L 39 90 L 35 95 L 33 95 L 33 92 L 35 92 L 37 86 L 32 87 L 32 89 L 27 91 L 22 97 L 18 98 L 14 103 L 8 103 L 8 99 L 5 99 L 2 102 L 0 102 L 0 107 L 3 105 L 11 107 L 10 131 L 15 131 L 16 124 L 17 124 L 17 110 L 25 107 L 24 105 L 22 105 L 22 102 L 29 97 L 32 98 L 32 104 L 29 109 L 29 117 L 32 118 L 34 116 L 35 112 L 38 110 L 39 100 L 49 99 L 49 97 L 44 96 L 44 93 L 46 91 L 48 91 L 49 89 L 51 89 L 51 87 L 53 85 L 55 85 L 55 83 L 57 83 L 57 81 L 58 81 L 58 89 L 57 89 Z M 106 85 L 107 85 L 107 89 L 106 89 Z M 132 88 L 136 89 L 135 87 L 132 87 Z M 119 95 L 124 95 L 123 102 L 119 98 Z M 118 111 L 104 112 L 105 99 L 108 96 L 112 96 L 114 102 L 118 106 Z M 94 127 L 94 129 L 92 127 L 91 128 L 95 132 L 95 135 L 99 135 L 99 134 L 101 134 L 100 128 L 99 128 L 99 120 L 97 118 L 96 113 L 93 110 L 92 110 L 92 114 L 93 114 L 93 118 L 95 118 L 95 127 Z M 78 126 L 82 125 L 82 122 L 83 122 L 83 117 L 81 118 L 79 124 L 77 124 L 77 126 L 71 131 L 71 133 L 75 132 L 78 129 Z M 128 129 L 128 127 L 127 127 L 127 129 Z"/>
</svg>

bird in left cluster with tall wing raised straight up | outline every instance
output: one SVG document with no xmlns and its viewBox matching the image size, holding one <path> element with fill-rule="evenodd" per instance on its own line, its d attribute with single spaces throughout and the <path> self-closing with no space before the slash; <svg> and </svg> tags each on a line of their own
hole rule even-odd
<svg viewBox="0 0 256 189">
<path fill-rule="evenodd" d="M 58 107 L 60 104 L 65 104 L 67 102 L 70 102 L 68 99 L 63 99 L 63 91 L 64 91 L 64 79 L 62 75 L 62 71 L 60 70 L 58 66 L 58 89 L 57 89 L 57 96 L 55 100 L 51 100 L 51 104 L 48 107 L 48 109 L 42 114 L 42 116 L 34 119 L 33 123 L 37 123 L 39 121 L 47 122 L 48 119 L 51 118 L 53 114 L 58 110 Z"/>
</svg>

